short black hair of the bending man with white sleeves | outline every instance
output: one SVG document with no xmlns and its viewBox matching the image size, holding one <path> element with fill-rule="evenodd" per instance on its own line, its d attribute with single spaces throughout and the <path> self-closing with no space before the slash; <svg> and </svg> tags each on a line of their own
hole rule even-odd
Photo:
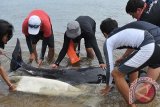
<svg viewBox="0 0 160 107">
<path fill-rule="evenodd" d="M 107 34 L 110 34 L 117 27 L 118 27 L 117 21 L 111 18 L 103 20 L 100 25 L 102 33 L 107 33 Z"/>
</svg>

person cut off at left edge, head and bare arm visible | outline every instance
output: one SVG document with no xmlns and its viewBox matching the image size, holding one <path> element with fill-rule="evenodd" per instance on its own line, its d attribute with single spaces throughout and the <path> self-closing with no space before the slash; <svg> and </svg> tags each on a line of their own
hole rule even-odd
<svg viewBox="0 0 160 107">
<path fill-rule="evenodd" d="M 4 49 L 5 44 L 7 44 L 7 42 L 12 38 L 12 35 L 13 35 L 13 26 L 7 21 L 0 19 L 0 48 Z M 0 55 L 4 54 L 5 53 L 2 50 L 0 50 Z M 0 75 L 7 83 L 9 90 L 11 91 L 16 90 L 15 85 L 13 85 L 8 79 L 6 71 L 1 65 L 1 62 L 0 62 Z"/>
</svg>

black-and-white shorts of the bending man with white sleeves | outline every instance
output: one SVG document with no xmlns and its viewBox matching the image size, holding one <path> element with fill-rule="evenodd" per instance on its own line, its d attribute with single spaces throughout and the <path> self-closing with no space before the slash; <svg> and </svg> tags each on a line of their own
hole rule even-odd
<svg viewBox="0 0 160 107">
<path fill-rule="evenodd" d="M 146 49 L 148 48 L 147 51 L 153 50 L 153 52 L 150 52 L 149 54 L 147 54 L 147 51 L 145 49 L 144 51 L 143 50 L 134 51 L 131 55 L 129 55 L 120 63 L 120 65 L 118 66 L 119 71 L 125 74 L 129 74 L 131 72 L 140 70 L 146 66 L 149 66 L 151 68 L 160 67 L 160 54 L 159 54 L 160 46 L 159 45 L 160 44 L 155 44 L 154 47 L 149 46 L 150 49 L 146 46 L 145 48 Z"/>
</svg>

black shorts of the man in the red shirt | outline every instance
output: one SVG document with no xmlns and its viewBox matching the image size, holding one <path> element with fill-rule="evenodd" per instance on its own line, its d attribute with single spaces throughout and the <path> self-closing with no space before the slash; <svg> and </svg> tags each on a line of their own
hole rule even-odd
<svg viewBox="0 0 160 107">
<path fill-rule="evenodd" d="M 48 47 L 54 48 L 54 35 L 52 34 L 50 37 L 44 37 L 43 32 L 40 32 L 38 35 L 30 35 L 32 44 L 37 44 L 39 40 L 42 40 L 43 44 L 47 44 Z"/>
</svg>

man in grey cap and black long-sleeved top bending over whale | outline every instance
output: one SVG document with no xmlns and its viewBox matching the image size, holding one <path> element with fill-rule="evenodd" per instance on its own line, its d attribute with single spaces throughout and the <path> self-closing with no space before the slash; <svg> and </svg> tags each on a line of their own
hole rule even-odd
<svg viewBox="0 0 160 107">
<path fill-rule="evenodd" d="M 62 61 L 68 51 L 71 40 L 74 43 L 80 43 L 80 40 L 84 38 L 87 57 L 94 58 L 95 52 L 100 67 L 105 68 L 106 65 L 103 62 L 101 52 L 98 48 L 95 31 L 96 23 L 89 16 L 79 16 L 75 21 L 69 22 L 67 24 L 67 31 L 64 34 L 63 48 L 61 49 L 56 62 L 52 64 L 52 67 L 57 68 L 59 66 L 59 63 Z"/>
</svg>

